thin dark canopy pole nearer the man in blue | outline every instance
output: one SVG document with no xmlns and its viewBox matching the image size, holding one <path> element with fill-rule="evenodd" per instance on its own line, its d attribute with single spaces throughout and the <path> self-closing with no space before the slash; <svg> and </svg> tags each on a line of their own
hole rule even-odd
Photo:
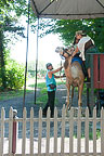
<svg viewBox="0 0 104 156">
<path fill-rule="evenodd" d="M 38 72 L 38 38 L 39 37 L 39 17 L 37 27 L 37 54 L 36 54 L 36 80 L 35 80 L 35 104 L 36 104 L 36 93 L 37 93 L 37 72 Z"/>
</svg>

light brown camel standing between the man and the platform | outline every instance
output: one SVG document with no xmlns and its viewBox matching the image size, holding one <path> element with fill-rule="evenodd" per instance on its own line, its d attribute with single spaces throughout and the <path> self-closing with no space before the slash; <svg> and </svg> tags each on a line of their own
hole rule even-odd
<svg viewBox="0 0 104 156">
<path fill-rule="evenodd" d="M 57 47 L 55 49 L 55 52 L 60 53 L 61 56 L 65 57 L 64 70 L 67 87 L 66 112 L 72 107 L 75 87 L 78 87 L 78 106 L 82 105 L 81 95 L 83 90 L 84 75 L 80 62 L 77 60 L 72 62 L 73 61 L 72 54 L 74 50 L 75 50 L 74 47 L 69 47 L 67 49 L 63 47 Z M 69 104 L 70 87 L 72 87 L 72 104 Z"/>
</svg>

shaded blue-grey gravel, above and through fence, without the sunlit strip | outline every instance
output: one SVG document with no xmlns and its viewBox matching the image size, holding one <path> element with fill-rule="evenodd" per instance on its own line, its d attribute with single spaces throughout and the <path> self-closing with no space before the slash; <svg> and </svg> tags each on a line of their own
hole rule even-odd
<svg viewBox="0 0 104 156">
<path fill-rule="evenodd" d="M 66 86 L 65 84 L 60 84 L 57 86 L 57 89 L 56 89 L 56 101 L 55 101 L 55 106 L 57 107 L 57 116 L 61 117 L 62 115 L 62 107 L 63 107 L 63 104 L 65 104 L 66 102 L 66 94 L 67 94 L 67 90 L 66 90 Z M 37 90 L 37 98 L 40 96 L 40 91 Z M 25 103 L 25 107 L 27 109 L 27 118 L 30 117 L 30 108 L 34 107 L 34 110 L 35 110 L 35 117 L 38 117 L 38 112 L 39 112 L 39 108 L 40 106 L 39 105 L 35 105 L 34 104 L 34 100 L 35 100 L 35 94 L 34 94 L 34 91 L 32 93 L 28 93 L 26 95 L 26 103 Z M 75 95 L 74 95 L 74 101 L 73 101 L 73 106 L 74 107 L 78 107 L 78 93 L 75 91 Z M 82 95 L 82 106 L 86 107 L 86 96 Z M 10 107 L 13 107 L 14 109 L 17 109 L 17 117 L 22 118 L 22 112 L 23 112 L 23 98 L 14 98 L 14 99 L 11 99 L 11 100 L 5 100 L 5 101 L 1 101 L 0 102 L 0 109 L 1 107 L 4 107 L 5 109 L 5 117 L 9 117 L 9 110 L 10 110 Z M 61 135 L 61 122 L 57 123 L 57 127 L 58 127 L 58 131 L 57 131 L 57 135 L 60 136 Z M 84 125 L 83 125 L 84 126 Z M 22 122 L 18 123 L 18 138 L 22 138 Z M 43 127 L 43 130 L 42 130 L 42 136 L 46 136 L 47 135 L 47 131 L 46 131 L 46 128 L 47 128 L 47 123 L 43 122 L 42 125 Z M 76 123 L 75 123 L 75 133 L 77 132 L 76 131 Z M 27 122 L 26 125 L 26 136 L 29 138 L 29 134 L 30 134 L 30 125 L 29 122 Z M 5 123 L 5 136 L 9 135 L 9 125 Z M 35 138 L 38 136 L 38 122 L 35 122 L 35 128 L 34 128 L 34 131 L 35 131 Z M 54 132 L 54 127 L 53 127 L 53 123 L 51 122 L 51 129 L 50 129 L 50 134 L 51 136 L 53 136 L 53 132 Z M 66 136 L 69 136 L 69 125 L 66 123 Z"/>
</svg>

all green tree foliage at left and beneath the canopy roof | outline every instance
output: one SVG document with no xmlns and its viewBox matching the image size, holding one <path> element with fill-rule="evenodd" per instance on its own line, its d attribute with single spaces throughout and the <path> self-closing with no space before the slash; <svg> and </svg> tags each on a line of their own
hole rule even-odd
<svg viewBox="0 0 104 156">
<path fill-rule="evenodd" d="M 30 2 L 30 1 L 29 1 Z M 28 8 L 29 6 L 29 8 Z M 29 10 L 28 10 L 29 9 Z M 28 14 L 29 12 L 29 14 Z M 27 0 L 0 1 L 0 81 L 3 88 L 8 87 L 6 63 L 9 57 L 9 42 L 14 38 L 25 37 L 25 27 L 20 23 L 20 17 L 28 17 L 31 30 L 36 31 L 37 18 Z M 74 41 L 76 30 L 84 30 L 95 42 L 100 52 L 104 52 L 104 18 L 95 20 L 40 20 L 40 37 L 48 34 L 57 34 L 65 46 Z M 8 52 L 8 53 L 6 53 Z M 6 56 L 8 55 L 8 56 Z M 14 69 L 13 69 L 14 72 Z M 11 72 L 10 72 L 11 73 Z M 15 72 L 16 73 L 16 72 Z M 11 74 L 10 74 L 11 75 Z"/>
</svg>

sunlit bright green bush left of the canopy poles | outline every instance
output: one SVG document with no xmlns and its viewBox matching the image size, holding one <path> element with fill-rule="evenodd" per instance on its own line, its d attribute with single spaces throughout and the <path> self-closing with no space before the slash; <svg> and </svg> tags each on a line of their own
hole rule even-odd
<svg viewBox="0 0 104 156">
<path fill-rule="evenodd" d="M 9 61 L 6 65 L 8 89 L 21 89 L 24 84 L 24 67 L 15 61 Z"/>
</svg>

